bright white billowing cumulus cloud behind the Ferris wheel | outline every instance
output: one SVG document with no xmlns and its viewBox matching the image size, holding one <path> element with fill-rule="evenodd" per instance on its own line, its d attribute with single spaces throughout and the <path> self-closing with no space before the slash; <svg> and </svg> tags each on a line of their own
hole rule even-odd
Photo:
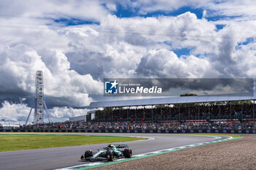
<svg viewBox="0 0 256 170">
<path fill-rule="evenodd" d="M 37 53 L 26 45 L 16 45 L 2 51 L 0 58 L 1 80 L 7 80 L 0 82 L 4 87 L 1 88 L 3 95 L 33 94 L 37 69 L 43 71 L 45 96 L 61 98 L 67 106 L 87 106 L 92 101 L 89 93 L 101 93 L 102 90 L 102 83 L 90 74 L 81 75 L 69 70 L 67 57 L 58 50 Z M 56 102 L 56 105 L 60 104 Z"/>
</svg>

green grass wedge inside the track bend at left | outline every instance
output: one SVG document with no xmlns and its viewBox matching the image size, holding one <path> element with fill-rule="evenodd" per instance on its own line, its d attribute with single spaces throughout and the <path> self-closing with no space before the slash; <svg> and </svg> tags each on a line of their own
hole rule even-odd
<svg viewBox="0 0 256 170">
<path fill-rule="evenodd" d="M 83 144 L 127 142 L 145 138 L 124 136 L 84 136 L 69 134 L 0 134 L 0 152 L 48 147 L 68 147 Z"/>
</svg>

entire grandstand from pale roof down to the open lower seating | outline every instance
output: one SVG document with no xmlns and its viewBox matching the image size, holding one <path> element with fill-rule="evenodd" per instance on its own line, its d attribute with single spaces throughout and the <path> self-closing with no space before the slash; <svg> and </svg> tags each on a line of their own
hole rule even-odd
<svg viewBox="0 0 256 170">
<path fill-rule="evenodd" d="M 255 99 L 182 96 L 91 102 L 89 107 L 97 110 L 87 115 L 11 131 L 256 134 Z"/>
</svg>

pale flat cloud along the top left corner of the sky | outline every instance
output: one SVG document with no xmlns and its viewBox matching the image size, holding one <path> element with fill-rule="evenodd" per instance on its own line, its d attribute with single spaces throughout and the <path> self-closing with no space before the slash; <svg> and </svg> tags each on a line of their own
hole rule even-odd
<svg viewBox="0 0 256 170">
<path fill-rule="evenodd" d="M 101 4 L 104 1 L 1 1 L 0 14 L 10 17 L 23 18 L 78 18 L 80 20 L 99 21 L 108 15 L 108 9 Z M 108 7 L 111 7 L 109 4 Z M 113 9 L 113 7 L 111 7 Z M 97 14 L 97 15 L 95 15 Z"/>
</svg>

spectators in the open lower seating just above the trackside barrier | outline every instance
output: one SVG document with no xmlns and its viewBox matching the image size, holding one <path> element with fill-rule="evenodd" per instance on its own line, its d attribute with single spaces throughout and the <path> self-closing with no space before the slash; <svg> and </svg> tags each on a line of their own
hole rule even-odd
<svg viewBox="0 0 256 170">
<path fill-rule="evenodd" d="M 232 129 L 232 130 L 255 130 L 256 123 L 235 122 L 194 122 L 194 123 L 93 123 L 93 122 L 64 122 L 45 123 L 38 125 L 40 129 L 91 129 L 91 130 L 195 130 L 195 129 Z M 20 129 L 33 129 L 34 125 L 21 126 Z"/>
</svg>

